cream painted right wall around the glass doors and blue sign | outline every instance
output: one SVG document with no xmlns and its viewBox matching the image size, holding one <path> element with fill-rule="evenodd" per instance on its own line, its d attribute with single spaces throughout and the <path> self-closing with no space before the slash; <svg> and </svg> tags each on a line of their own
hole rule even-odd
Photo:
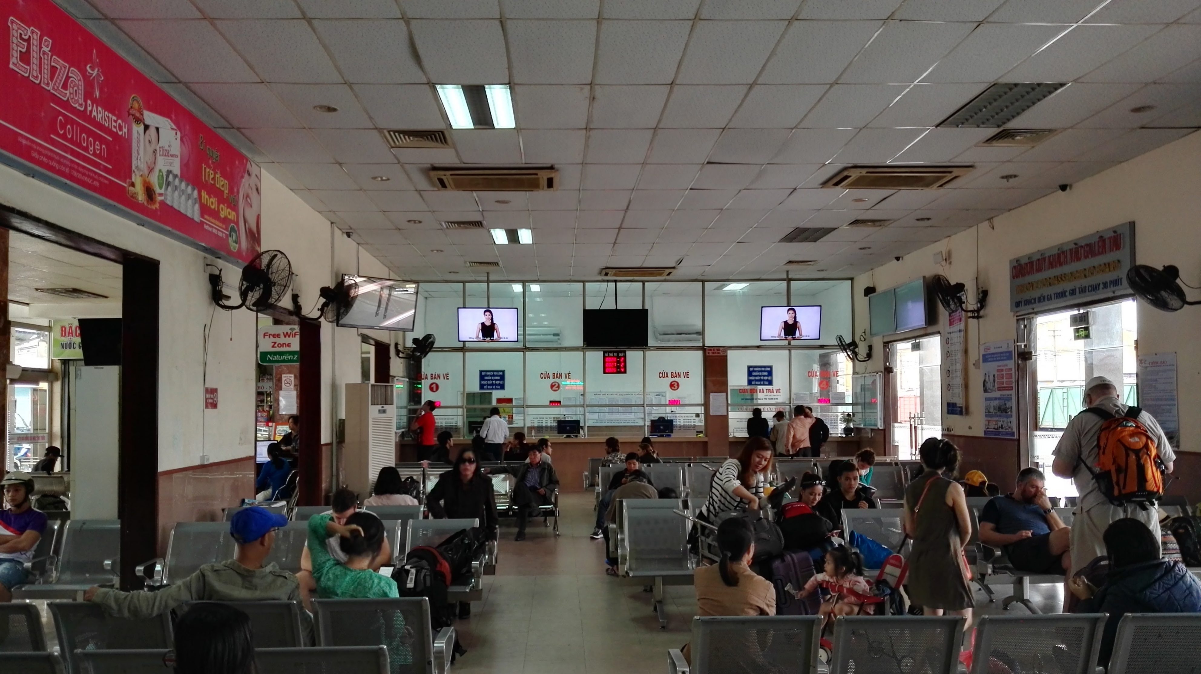
<svg viewBox="0 0 1201 674">
<path fill-rule="evenodd" d="M 1077 183 L 1069 192 L 1056 192 L 1034 203 L 999 215 L 948 239 L 904 256 L 855 279 L 855 329 L 867 328 L 865 286 L 885 290 L 921 275 L 944 274 L 952 282 L 976 284 L 988 290 L 988 309 L 980 321 L 968 321 L 967 374 L 968 414 L 943 417 L 950 434 L 982 435 L 982 393 L 979 369 L 980 344 L 1014 339 L 1017 323 L 1009 311 L 1009 261 L 1014 257 L 1058 245 L 1127 221 L 1135 222 L 1135 261 L 1161 267 L 1176 264 L 1184 282 L 1201 286 L 1201 133 L 1193 133 L 1157 150 L 1121 163 Z M 950 254 L 950 263 L 936 266 L 936 252 Z M 1201 293 L 1189 291 L 1193 299 Z M 944 330 L 945 312 L 938 309 Z M 1201 351 L 1195 347 L 1201 334 L 1201 308 L 1165 314 L 1140 304 L 1139 352 L 1176 352 L 1183 449 L 1201 452 L 1201 417 L 1187 413 L 1201 405 Z M 907 336 L 891 335 L 898 340 Z M 883 369 L 883 340 L 874 338 L 873 358 L 856 364 L 856 371 Z"/>
</svg>

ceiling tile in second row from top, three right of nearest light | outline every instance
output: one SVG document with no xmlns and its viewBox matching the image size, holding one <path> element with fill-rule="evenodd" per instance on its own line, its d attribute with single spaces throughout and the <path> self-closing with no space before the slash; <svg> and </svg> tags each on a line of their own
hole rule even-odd
<svg viewBox="0 0 1201 674">
<path fill-rule="evenodd" d="M 680 64 L 681 84 L 754 82 L 787 22 L 701 22 Z"/>
</svg>

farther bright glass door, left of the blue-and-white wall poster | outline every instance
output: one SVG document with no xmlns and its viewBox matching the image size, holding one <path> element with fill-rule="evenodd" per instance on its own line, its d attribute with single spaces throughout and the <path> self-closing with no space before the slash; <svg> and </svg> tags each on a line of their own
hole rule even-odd
<svg viewBox="0 0 1201 674">
<path fill-rule="evenodd" d="M 888 345 L 892 365 L 892 452 L 916 459 L 927 437 L 943 435 L 942 335 Z"/>
</svg>

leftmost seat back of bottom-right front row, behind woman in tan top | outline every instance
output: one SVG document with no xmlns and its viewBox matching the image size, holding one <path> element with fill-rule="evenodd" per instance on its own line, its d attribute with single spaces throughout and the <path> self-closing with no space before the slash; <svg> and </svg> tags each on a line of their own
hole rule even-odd
<svg viewBox="0 0 1201 674">
<path fill-rule="evenodd" d="M 670 649 L 668 674 L 817 674 L 820 637 L 818 615 L 694 618 L 688 649 L 692 666 L 681 650 Z"/>
</svg>

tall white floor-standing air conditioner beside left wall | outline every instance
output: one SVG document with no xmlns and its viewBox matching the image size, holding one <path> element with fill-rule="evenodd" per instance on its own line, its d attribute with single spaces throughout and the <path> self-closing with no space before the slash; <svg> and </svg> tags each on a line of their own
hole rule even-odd
<svg viewBox="0 0 1201 674">
<path fill-rule="evenodd" d="M 346 384 L 346 485 L 366 499 L 380 469 L 396 464 L 395 389 L 387 383 Z"/>
</svg>

